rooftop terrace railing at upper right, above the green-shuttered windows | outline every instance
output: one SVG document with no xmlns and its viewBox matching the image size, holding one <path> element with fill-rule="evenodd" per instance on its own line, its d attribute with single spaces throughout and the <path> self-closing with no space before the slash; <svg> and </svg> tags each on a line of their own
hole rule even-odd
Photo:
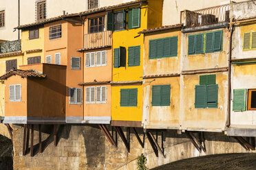
<svg viewBox="0 0 256 170">
<path fill-rule="evenodd" d="M 229 21 L 230 5 L 219 5 L 201 10 L 184 10 L 181 13 L 181 23 L 186 27 L 196 27 L 200 25 L 211 25 Z"/>
</svg>

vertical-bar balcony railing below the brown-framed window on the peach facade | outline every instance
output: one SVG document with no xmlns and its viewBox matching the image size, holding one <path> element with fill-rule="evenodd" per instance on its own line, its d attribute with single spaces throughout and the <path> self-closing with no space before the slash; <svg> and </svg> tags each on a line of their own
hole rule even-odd
<svg viewBox="0 0 256 170">
<path fill-rule="evenodd" d="M 111 31 L 85 34 L 84 49 L 96 49 L 112 45 Z"/>
</svg>

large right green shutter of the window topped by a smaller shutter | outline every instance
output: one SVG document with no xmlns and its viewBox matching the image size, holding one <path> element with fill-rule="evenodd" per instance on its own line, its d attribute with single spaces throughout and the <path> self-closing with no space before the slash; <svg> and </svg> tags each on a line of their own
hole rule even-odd
<svg viewBox="0 0 256 170">
<path fill-rule="evenodd" d="M 207 107 L 217 108 L 217 84 L 211 84 L 207 86 Z"/>
</svg>

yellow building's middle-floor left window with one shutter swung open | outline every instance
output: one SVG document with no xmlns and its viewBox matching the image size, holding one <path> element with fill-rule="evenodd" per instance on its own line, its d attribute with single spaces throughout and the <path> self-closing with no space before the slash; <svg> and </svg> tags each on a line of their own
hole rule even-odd
<svg viewBox="0 0 256 170">
<path fill-rule="evenodd" d="M 126 62 L 126 49 L 125 47 L 119 47 L 114 49 L 114 68 L 125 66 Z"/>
</svg>

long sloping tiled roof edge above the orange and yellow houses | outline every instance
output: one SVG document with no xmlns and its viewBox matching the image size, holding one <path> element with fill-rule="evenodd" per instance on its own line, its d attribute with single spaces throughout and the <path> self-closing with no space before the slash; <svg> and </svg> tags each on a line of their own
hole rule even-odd
<svg viewBox="0 0 256 170">
<path fill-rule="evenodd" d="M 96 8 L 96 9 L 87 10 L 87 11 L 84 11 L 84 12 L 78 12 L 78 13 L 74 13 L 74 14 L 64 14 L 64 15 L 56 16 L 56 17 L 53 17 L 53 18 L 50 18 L 50 19 L 44 19 L 44 20 L 41 20 L 41 21 L 37 21 L 35 23 L 20 25 L 18 27 L 15 27 L 14 29 L 23 29 L 23 28 L 33 27 L 33 26 L 44 25 L 46 23 L 52 23 L 52 22 L 55 22 L 55 21 L 60 21 L 60 20 L 63 20 L 63 19 L 74 17 L 74 16 L 85 16 L 85 15 L 94 14 L 94 13 L 98 13 L 98 12 L 104 12 L 104 11 L 107 11 L 107 10 L 114 10 L 114 9 L 117 9 L 117 8 L 124 8 L 124 7 L 130 6 L 130 5 L 137 5 L 137 4 L 140 4 L 140 3 L 143 3 L 143 2 L 147 2 L 147 0 L 130 1 L 130 2 L 127 2 L 127 3 L 120 3 L 118 5 L 111 5 L 111 6 L 106 6 L 106 7 L 103 7 L 103 8 Z"/>
</svg>

